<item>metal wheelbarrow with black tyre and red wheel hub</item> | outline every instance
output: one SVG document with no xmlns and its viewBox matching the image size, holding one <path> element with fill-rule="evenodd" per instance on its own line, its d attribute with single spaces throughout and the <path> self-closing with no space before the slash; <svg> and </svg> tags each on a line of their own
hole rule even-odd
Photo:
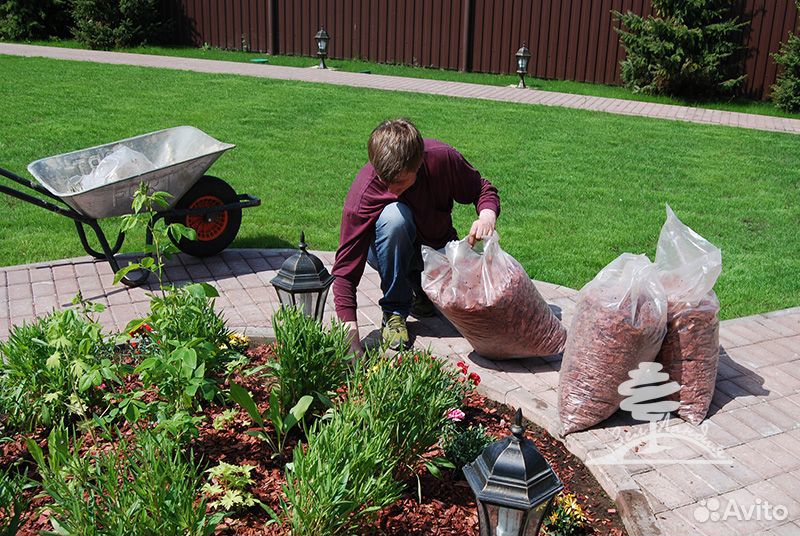
<svg viewBox="0 0 800 536">
<path fill-rule="evenodd" d="M 194 229 L 195 240 L 173 240 L 181 251 L 207 257 L 224 250 L 236 238 L 243 208 L 261 204 L 257 197 L 237 194 L 225 181 L 205 175 L 217 158 L 233 147 L 195 127 L 169 128 L 32 162 L 28 171 L 39 184 L 0 168 L 0 175 L 61 204 L 3 184 L 0 192 L 73 220 L 86 253 L 108 261 L 116 273 L 120 266 L 115 256 L 122 248 L 125 233 L 120 231 L 112 246 L 97 220 L 132 213 L 133 195 L 145 183 L 151 192 L 162 191 L 172 196 L 170 205 L 150 222 L 147 244 L 152 243 L 152 226 L 164 218 L 167 223 L 178 222 Z M 146 157 L 146 171 L 128 176 L 123 167 L 119 173 L 108 176 L 106 182 L 93 177 L 106 157 L 128 149 Z M 97 236 L 101 251 L 89 245 L 86 227 Z M 122 282 L 138 286 L 149 275 L 148 271 L 134 270 Z"/>
</svg>

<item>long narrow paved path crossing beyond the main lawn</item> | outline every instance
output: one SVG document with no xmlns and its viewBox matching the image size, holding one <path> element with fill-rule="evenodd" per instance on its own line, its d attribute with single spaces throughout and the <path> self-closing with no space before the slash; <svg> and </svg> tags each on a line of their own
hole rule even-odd
<svg viewBox="0 0 800 536">
<path fill-rule="evenodd" d="M 690 121 L 693 123 L 738 126 L 758 130 L 800 134 L 800 120 L 798 119 L 725 112 L 721 110 L 674 106 L 669 104 L 655 104 L 633 100 L 609 99 L 605 97 L 591 97 L 570 93 L 556 93 L 553 91 L 520 90 L 515 87 L 486 86 L 481 84 L 467 84 L 464 82 L 445 82 L 421 78 L 348 73 L 343 71 L 299 67 L 281 67 L 277 65 L 257 65 L 229 61 L 7 43 L 0 43 L 0 54 L 43 56 L 62 60 L 138 65 L 143 67 L 179 69 L 204 73 L 237 74 L 281 80 L 299 80 L 304 82 L 364 87 L 386 91 L 407 91 L 410 93 L 429 93 L 450 97 L 562 106 L 565 108 L 595 110 L 613 114 L 637 115 L 659 119 Z"/>
</svg>

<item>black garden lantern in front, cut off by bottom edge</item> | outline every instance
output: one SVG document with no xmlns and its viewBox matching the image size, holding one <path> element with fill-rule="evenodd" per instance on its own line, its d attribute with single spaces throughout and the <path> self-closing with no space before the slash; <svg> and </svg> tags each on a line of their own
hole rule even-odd
<svg viewBox="0 0 800 536">
<path fill-rule="evenodd" d="M 525 439 L 522 410 L 511 435 L 464 466 L 478 504 L 480 536 L 536 536 L 564 485 L 533 442 Z"/>
</svg>

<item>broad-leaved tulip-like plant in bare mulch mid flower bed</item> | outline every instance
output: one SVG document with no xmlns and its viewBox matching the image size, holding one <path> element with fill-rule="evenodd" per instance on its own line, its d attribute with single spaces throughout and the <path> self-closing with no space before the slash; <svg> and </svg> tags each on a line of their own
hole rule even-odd
<svg viewBox="0 0 800 536">
<path fill-rule="evenodd" d="M 311 402 L 314 401 L 311 395 L 302 396 L 297 404 L 292 406 L 289 412 L 284 416 L 278 400 L 278 393 L 273 389 L 269 395 L 269 407 L 264 413 L 260 413 L 258 411 L 258 406 L 256 406 L 253 397 L 247 389 L 233 382 L 231 382 L 231 399 L 242 406 L 247 411 L 247 414 L 250 415 L 250 418 L 253 419 L 253 422 L 261 428 L 261 430 L 254 430 L 247 433 L 266 441 L 269 448 L 272 450 L 273 458 L 283 453 L 283 450 L 286 448 L 286 439 L 288 438 L 289 431 L 303 420 L 308 408 L 311 407 Z M 267 432 L 267 422 L 272 423 L 274 437 Z"/>
</svg>

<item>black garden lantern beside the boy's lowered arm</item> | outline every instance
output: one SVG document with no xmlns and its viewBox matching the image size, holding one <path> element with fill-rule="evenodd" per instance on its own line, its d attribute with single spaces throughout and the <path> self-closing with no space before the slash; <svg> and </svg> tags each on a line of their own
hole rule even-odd
<svg viewBox="0 0 800 536">
<path fill-rule="evenodd" d="M 322 322 L 325 299 L 333 283 L 333 276 L 322 265 L 319 257 L 306 251 L 305 233 L 300 233 L 300 251 L 286 259 L 272 278 L 281 305 L 297 307 L 306 315 Z"/>
</svg>

